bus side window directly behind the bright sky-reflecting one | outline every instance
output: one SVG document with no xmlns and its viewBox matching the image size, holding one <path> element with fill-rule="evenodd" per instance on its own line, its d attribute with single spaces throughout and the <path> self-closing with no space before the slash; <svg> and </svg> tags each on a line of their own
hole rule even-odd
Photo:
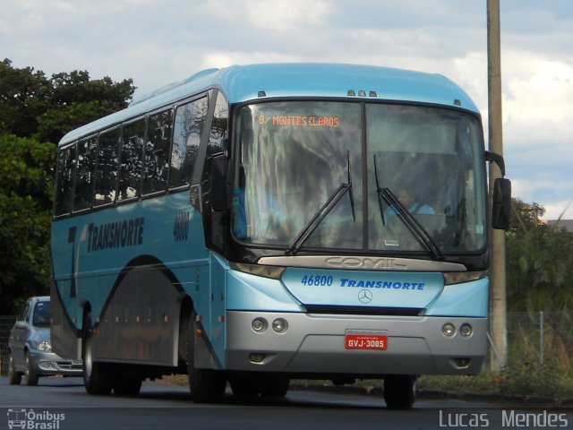
<svg viewBox="0 0 573 430">
<path fill-rule="evenodd" d="M 172 110 L 150 116 L 147 124 L 143 193 L 157 193 L 167 188 L 169 148 L 171 147 Z"/>
</svg>

